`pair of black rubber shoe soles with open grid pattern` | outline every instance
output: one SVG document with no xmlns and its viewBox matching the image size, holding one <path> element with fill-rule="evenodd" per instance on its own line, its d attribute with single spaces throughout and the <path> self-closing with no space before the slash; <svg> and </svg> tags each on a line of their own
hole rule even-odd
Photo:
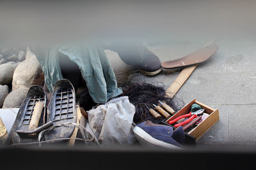
<svg viewBox="0 0 256 170">
<path fill-rule="evenodd" d="M 35 107 L 38 103 L 44 106 L 38 111 L 37 127 L 31 129 L 31 124 L 35 119 L 33 115 L 36 114 Z M 45 141 L 70 138 L 75 129 L 75 126 L 70 123 L 76 122 L 76 94 L 69 80 L 62 79 L 55 83 L 48 106 L 44 89 L 39 85 L 34 85 L 28 90 L 20 106 L 6 144 L 35 143 L 38 141 L 38 134 L 50 127 L 54 128 L 45 131 Z"/>
</svg>

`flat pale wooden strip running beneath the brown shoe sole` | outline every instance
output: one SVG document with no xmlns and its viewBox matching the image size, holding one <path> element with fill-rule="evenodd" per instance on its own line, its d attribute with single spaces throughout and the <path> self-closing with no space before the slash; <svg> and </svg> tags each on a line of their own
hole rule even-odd
<svg viewBox="0 0 256 170">
<path fill-rule="evenodd" d="M 185 83 L 189 76 L 195 70 L 197 64 L 194 66 L 185 67 L 180 71 L 179 76 L 173 81 L 172 85 L 166 90 L 167 97 L 173 98 L 175 94 L 179 91 L 180 87 Z"/>
</svg>

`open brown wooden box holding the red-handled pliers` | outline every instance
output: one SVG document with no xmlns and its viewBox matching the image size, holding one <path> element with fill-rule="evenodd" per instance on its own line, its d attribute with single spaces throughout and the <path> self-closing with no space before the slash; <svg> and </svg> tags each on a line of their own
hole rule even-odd
<svg viewBox="0 0 256 170">
<path fill-rule="evenodd" d="M 218 109 L 214 110 L 213 108 L 196 101 L 196 99 L 193 99 L 193 101 L 191 101 L 186 106 L 184 106 L 184 108 L 182 108 L 177 113 L 175 113 L 175 115 L 168 118 L 166 122 L 168 123 L 170 120 L 173 120 L 174 118 L 177 118 L 181 115 L 188 114 L 189 111 L 191 110 L 192 104 L 194 103 L 199 104 L 205 110 L 204 113 L 209 114 L 209 117 L 207 117 L 198 126 L 196 126 L 194 129 L 188 132 L 188 134 L 195 137 L 197 141 L 205 132 L 207 132 L 212 127 L 212 125 L 214 125 L 216 122 L 218 122 L 218 120 L 220 120 Z"/>
</svg>

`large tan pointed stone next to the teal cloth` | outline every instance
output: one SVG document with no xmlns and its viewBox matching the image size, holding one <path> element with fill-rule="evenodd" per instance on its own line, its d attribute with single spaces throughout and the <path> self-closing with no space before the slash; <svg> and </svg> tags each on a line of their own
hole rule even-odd
<svg viewBox="0 0 256 170">
<path fill-rule="evenodd" d="M 29 88 L 42 85 L 44 72 L 33 52 L 27 49 L 26 60 L 20 62 L 13 74 L 12 89 Z"/>
</svg>

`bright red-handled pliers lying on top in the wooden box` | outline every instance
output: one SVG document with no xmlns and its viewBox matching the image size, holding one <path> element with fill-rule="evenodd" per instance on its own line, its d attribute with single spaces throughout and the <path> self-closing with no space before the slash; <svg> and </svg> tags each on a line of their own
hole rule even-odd
<svg viewBox="0 0 256 170">
<path fill-rule="evenodd" d="M 203 115 L 204 113 L 204 109 L 201 109 L 201 110 L 196 110 L 195 112 L 189 112 L 188 114 L 186 115 L 181 115 L 180 117 L 177 117 L 173 120 L 171 120 L 170 122 L 168 122 L 170 125 L 174 124 L 175 122 L 177 122 L 178 120 L 180 120 L 180 118 L 186 118 L 186 117 L 189 117 L 187 120 L 183 121 L 183 122 L 180 122 L 179 124 L 175 124 L 174 127 L 179 127 L 180 125 L 186 125 L 188 124 L 191 120 L 193 120 L 193 118 L 196 118 L 200 115 Z"/>
</svg>

